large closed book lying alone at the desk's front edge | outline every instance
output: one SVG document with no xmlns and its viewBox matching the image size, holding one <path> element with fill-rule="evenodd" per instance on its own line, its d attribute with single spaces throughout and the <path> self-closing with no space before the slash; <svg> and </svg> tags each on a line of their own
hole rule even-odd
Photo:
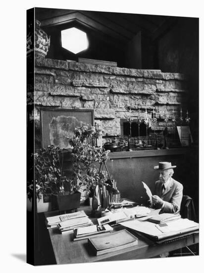
<svg viewBox="0 0 204 273">
<path fill-rule="evenodd" d="M 95 255 L 102 255 L 113 251 L 138 245 L 138 238 L 126 229 L 116 231 L 101 237 L 88 239 L 88 244 Z"/>
</svg>

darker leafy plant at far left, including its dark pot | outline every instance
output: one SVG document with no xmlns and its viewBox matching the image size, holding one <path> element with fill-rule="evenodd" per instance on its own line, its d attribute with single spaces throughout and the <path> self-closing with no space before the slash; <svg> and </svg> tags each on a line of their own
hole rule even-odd
<svg viewBox="0 0 204 273">
<path fill-rule="evenodd" d="M 32 154 L 32 157 L 34 157 L 35 185 L 33 181 L 28 182 L 28 198 L 31 199 L 35 194 L 36 200 L 41 200 L 43 195 L 51 193 L 52 210 L 70 210 L 79 207 L 81 194 L 64 175 L 63 150 L 49 145 Z"/>
</svg>

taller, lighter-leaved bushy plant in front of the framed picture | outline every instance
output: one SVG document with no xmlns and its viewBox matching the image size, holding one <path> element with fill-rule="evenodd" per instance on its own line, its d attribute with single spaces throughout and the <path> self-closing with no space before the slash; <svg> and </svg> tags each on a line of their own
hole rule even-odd
<svg viewBox="0 0 204 273">
<path fill-rule="evenodd" d="M 95 127 L 89 128 L 82 126 L 75 129 L 74 136 L 70 139 L 72 149 L 72 187 L 78 190 L 84 188 L 89 197 L 93 197 L 96 183 L 99 180 L 106 181 L 107 173 L 105 171 L 99 174 L 99 169 L 94 163 L 101 164 L 108 160 L 108 151 L 101 147 L 95 146 L 97 138 L 100 136 L 101 131 Z"/>
</svg>

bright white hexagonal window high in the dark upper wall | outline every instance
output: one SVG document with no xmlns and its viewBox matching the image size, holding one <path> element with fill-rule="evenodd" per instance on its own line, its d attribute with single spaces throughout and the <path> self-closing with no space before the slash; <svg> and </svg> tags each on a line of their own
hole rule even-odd
<svg viewBox="0 0 204 273">
<path fill-rule="evenodd" d="M 61 45 L 63 48 L 77 54 L 88 48 L 89 43 L 86 32 L 76 27 L 61 31 Z"/>
</svg>

